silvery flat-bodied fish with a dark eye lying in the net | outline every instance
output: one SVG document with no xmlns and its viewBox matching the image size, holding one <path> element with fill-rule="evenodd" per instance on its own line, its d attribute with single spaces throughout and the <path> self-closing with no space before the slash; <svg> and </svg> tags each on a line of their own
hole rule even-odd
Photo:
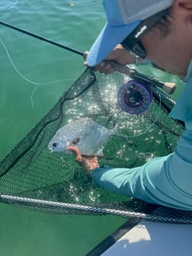
<svg viewBox="0 0 192 256">
<path fill-rule="evenodd" d="M 107 139 L 115 129 L 107 129 L 91 117 L 80 117 L 59 128 L 49 142 L 51 152 L 72 153 L 69 146 L 76 146 L 82 155 L 101 156 Z"/>
</svg>

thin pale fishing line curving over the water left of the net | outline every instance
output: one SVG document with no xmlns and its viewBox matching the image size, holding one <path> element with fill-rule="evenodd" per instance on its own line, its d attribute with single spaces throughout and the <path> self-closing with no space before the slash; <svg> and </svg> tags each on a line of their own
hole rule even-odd
<svg viewBox="0 0 192 256">
<path fill-rule="evenodd" d="M 13 66 L 14 70 L 18 73 L 18 75 L 21 76 L 21 78 L 23 78 L 25 81 L 29 82 L 30 84 L 33 84 L 35 85 L 35 88 L 34 90 L 32 91 L 31 95 L 30 95 L 30 102 L 31 102 L 31 106 L 34 108 L 34 93 L 35 91 L 37 90 L 38 86 L 39 85 L 50 85 L 50 84 L 53 84 L 53 83 L 59 83 L 59 82 L 66 82 L 66 81 L 74 81 L 75 79 L 61 79 L 61 80 L 55 80 L 55 81 L 52 81 L 52 82 L 42 82 L 42 83 L 38 83 L 38 82 L 34 82 L 34 81 L 31 81 L 30 79 L 28 79 L 26 76 L 24 76 L 23 74 L 21 74 L 21 72 L 18 70 L 18 68 L 15 66 L 13 60 L 11 59 L 11 56 L 10 54 L 8 53 L 8 49 L 7 47 L 5 46 L 5 43 L 2 41 L 2 39 L 0 38 L 0 42 L 2 43 L 2 46 L 4 47 L 5 49 L 5 52 L 8 56 L 8 59 L 9 61 L 11 62 L 11 66 Z"/>
</svg>

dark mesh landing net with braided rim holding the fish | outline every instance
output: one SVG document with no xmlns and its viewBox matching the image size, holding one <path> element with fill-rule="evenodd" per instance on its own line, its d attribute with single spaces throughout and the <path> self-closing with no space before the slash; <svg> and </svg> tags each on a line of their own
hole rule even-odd
<svg viewBox="0 0 192 256">
<path fill-rule="evenodd" d="M 145 114 L 117 107 L 117 90 L 129 78 L 101 75 L 88 68 L 40 123 L 0 162 L 0 201 L 30 210 L 59 214 L 114 214 L 159 222 L 191 223 L 189 211 L 154 206 L 98 187 L 70 154 L 50 152 L 48 143 L 69 120 L 91 117 L 118 133 L 104 144 L 101 165 L 133 168 L 172 152 L 183 124 L 168 117 L 171 98 L 152 88 Z"/>
</svg>

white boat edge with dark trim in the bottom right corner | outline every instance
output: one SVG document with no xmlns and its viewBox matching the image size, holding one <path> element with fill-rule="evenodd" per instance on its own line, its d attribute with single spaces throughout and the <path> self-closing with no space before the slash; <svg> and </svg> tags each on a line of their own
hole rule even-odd
<svg viewBox="0 0 192 256">
<path fill-rule="evenodd" d="M 86 256 L 191 256 L 192 225 L 128 220 Z"/>
</svg>

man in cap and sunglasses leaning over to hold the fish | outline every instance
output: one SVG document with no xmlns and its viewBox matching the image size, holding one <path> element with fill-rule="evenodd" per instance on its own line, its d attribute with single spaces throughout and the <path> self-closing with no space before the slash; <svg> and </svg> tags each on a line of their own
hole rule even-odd
<svg viewBox="0 0 192 256">
<path fill-rule="evenodd" d="M 186 131 L 174 152 L 136 168 L 99 168 L 98 158 L 76 160 L 101 187 L 149 203 L 192 210 L 192 0 L 104 0 L 107 24 L 88 53 L 85 66 L 113 72 L 104 59 L 125 65 L 149 59 L 187 82 L 171 117 Z"/>
</svg>

